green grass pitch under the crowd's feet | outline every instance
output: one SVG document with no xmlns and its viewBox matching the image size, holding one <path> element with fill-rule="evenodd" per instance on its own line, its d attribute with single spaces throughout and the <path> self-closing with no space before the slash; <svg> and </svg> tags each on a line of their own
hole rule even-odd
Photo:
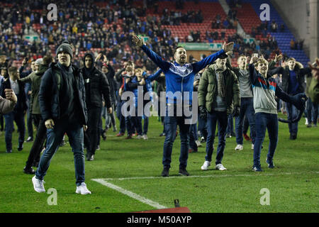
<svg viewBox="0 0 319 227">
<path fill-rule="evenodd" d="M 125 140 L 108 131 L 106 141 L 95 160 L 85 162 L 86 184 L 92 194 L 75 194 L 74 160 L 69 143 L 57 150 L 45 176 L 45 189 L 56 189 L 57 205 L 48 204 L 51 194 L 33 190 L 32 175 L 23 173 L 31 143 L 17 150 L 18 134 L 13 133 L 13 153 L 5 153 L 4 132 L 0 135 L 0 212 L 131 212 L 157 209 L 92 179 L 105 179 L 125 192 L 174 207 L 174 199 L 191 212 L 315 212 L 319 211 L 319 128 L 299 123 L 298 139 L 289 140 L 288 125 L 279 123 L 279 143 L 273 170 L 267 168 L 268 134 L 264 140 L 261 162 L 264 172 L 252 172 L 252 150 L 244 141 L 237 152 L 235 138 L 227 138 L 223 165 L 227 171 L 203 172 L 205 145 L 189 154 L 190 177 L 179 170 L 179 136 L 174 142 L 170 177 L 160 177 L 164 138 L 162 124 L 150 118 L 148 140 Z M 27 133 L 26 133 L 27 138 Z M 66 140 L 67 137 L 66 137 Z M 217 147 L 218 139 L 215 141 Z M 213 160 L 216 150 L 213 152 Z M 262 205 L 262 189 L 269 190 L 269 205 Z"/>
</svg>

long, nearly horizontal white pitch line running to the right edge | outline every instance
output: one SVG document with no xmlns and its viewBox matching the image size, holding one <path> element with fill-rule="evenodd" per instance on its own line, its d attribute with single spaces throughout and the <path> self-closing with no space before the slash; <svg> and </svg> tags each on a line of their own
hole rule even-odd
<svg viewBox="0 0 319 227">
<path fill-rule="evenodd" d="M 172 178 L 203 178 L 203 177 L 262 177 L 262 176 L 277 176 L 277 175 L 303 175 L 303 174 L 319 174 L 319 172 L 278 172 L 269 174 L 250 174 L 250 175 L 201 175 L 201 176 L 172 176 L 172 177 L 123 177 L 123 178 L 103 178 L 104 180 L 126 180 L 126 179 L 172 179 Z M 96 180 L 96 179 L 92 179 Z"/>
</svg>

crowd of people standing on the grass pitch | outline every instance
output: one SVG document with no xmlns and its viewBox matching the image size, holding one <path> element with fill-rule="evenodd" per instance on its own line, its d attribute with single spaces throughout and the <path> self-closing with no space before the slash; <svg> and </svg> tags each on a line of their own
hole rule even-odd
<svg viewBox="0 0 319 227">
<path fill-rule="evenodd" d="M 43 177 L 52 156 L 67 135 L 74 153 L 77 193 L 90 194 L 84 183 L 83 148 L 86 148 L 86 160 L 94 160 L 100 137 L 106 139 L 108 128 L 113 127 L 113 131 L 117 130 L 115 110 L 120 121 L 117 136 L 123 136 L 126 131 L 126 139 L 131 139 L 135 135 L 137 139 L 147 140 L 148 116 L 143 110 L 154 99 L 153 95 L 159 96 L 159 92 L 162 91 L 166 92 L 166 100 L 162 101 L 167 106 L 166 114 L 164 116 L 159 114 L 163 123 L 161 135 L 165 136 L 163 177 L 169 176 L 172 145 L 177 134 L 181 137 L 179 174 L 189 175 L 186 170 L 188 155 L 197 152 L 201 146 L 198 133 L 203 138 L 202 142 L 206 141 L 206 157 L 201 170 L 208 170 L 212 162 L 217 125 L 216 170 L 227 170 L 222 160 L 227 130 L 230 127 L 229 120 L 233 117 L 235 117 L 237 142 L 235 150 L 238 151 L 244 149 L 243 123 L 245 118 L 247 119 L 252 141 L 251 149 L 254 150 L 254 171 L 262 171 L 260 152 L 266 129 L 268 130 L 270 144 L 267 165 L 269 168 L 274 168 L 273 157 L 278 141 L 279 99 L 286 105 L 291 140 L 296 140 L 298 135 L 298 121 L 294 121 L 298 111 L 305 109 L 306 95 L 303 92 L 308 95 L 308 124 L 312 122 L 313 126 L 316 126 L 317 118 L 311 118 L 311 109 L 308 105 L 311 104 L 314 109 L 316 108 L 310 96 L 313 96 L 318 89 L 316 88 L 318 84 L 314 87 L 305 85 L 305 78 L 309 80 L 309 84 L 313 83 L 311 70 L 315 68 L 313 66 L 304 68 L 293 57 L 284 60 L 282 55 L 276 55 L 274 60 L 268 62 L 264 57 L 258 57 L 258 54 L 251 57 L 240 55 L 237 59 L 238 67 L 233 67 L 229 56 L 233 53 L 234 43 L 228 43 L 223 45 L 223 50 L 202 60 L 193 60 L 190 64 L 186 63 L 186 50 L 177 47 L 174 51 L 173 64 L 162 60 L 162 57 L 148 48 L 137 35 L 133 35 L 133 44 L 145 52 L 145 55 L 159 67 L 156 72 L 150 74 L 146 67 L 138 67 L 131 61 L 125 62 L 121 70 L 116 72 L 106 55 L 99 53 L 95 56 L 90 52 L 82 59 L 84 67 L 78 68 L 72 64 L 74 50 L 68 41 L 57 48 L 56 61 L 51 56 L 38 58 L 31 62 L 30 71 L 26 71 L 27 60 L 23 60 L 23 66 L 18 69 L 7 65 L 6 57 L 0 57 L 0 92 L 1 96 L 9 101 L 4 108 L 2 103 L 5 99 L 1 99 L 1 108 L 4 108 L 1 109 L 1 113 L 5 119 L 6 152 L 11 153 L 13 149 L 13 121 L 16 122 L 16 130 L 19 133 L 18 150 L 23 150 L 26 128 L 24 119 L 25 114 L 29 112 L 37 133 L 34 141 L 33 138 L 28 138 L 29 142 L 33 141 L 33 145 L 23 172 L 35 174 L 32 180 L 36 192 L 45 192 Z M 279 67 L 275 67 L 278 62 L 280 62 Z M 177 76 L 184 79 L 179 80 Z M 26 89 L 25 85 L 28 83 L 29 89 Z M 174 113 L 177 113 L 179 98 L 174 96 L 174 92 L 178 91 L 179 84 L 184 92 L 198 92 L 198 107 L 194 107 L 198 108 L 199 114 L 195 122 L 184 122 L 189 118 L 184 110 L 181 116 L 168 115 L 168 109 L 171 107 Z M 153 89 L 157 94 L 152 92 Z M 134 114 L 130 112 L 128 115 L 123 115 L 122 106 L 129 101 L 122 97 L 124 92 L 134 94 Z M 138 104 L 139 92 L 150 94 L 149 100 L 142 102 L 142 106 Z M 173 96 L 170 92 L 173 92 Z M 29 101 L 28 95 L 30 95 Z M 182 102 L 187 108 L 191 107 L 191 97 L 192 95 L 187 99 L 189 104 L 187 101 Z M 318 95 L 313 97 L 318 99 Z M 138 114 L 141 109 L 142 115 Z M 158 111 L 161 112 L 160 108 Z M 101 125 L 102 116 L 106 118 L 105 128 Z M 43 155 L 40 156 L 41 151 Z M 36 172 L 33 167 L 38 167 Z"/>
</svg>

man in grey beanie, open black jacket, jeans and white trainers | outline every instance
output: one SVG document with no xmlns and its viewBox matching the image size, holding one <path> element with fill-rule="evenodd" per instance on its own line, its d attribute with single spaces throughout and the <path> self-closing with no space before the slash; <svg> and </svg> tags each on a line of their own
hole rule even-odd
<svg viewBox="0 0 319 227">
<path fill-rule="evenodd" d="M 50 64 L 40 82 L 40 114 L 47 128 L 47 143 L 32 178 L 35 192 L 45 192 L 43 179 L 65 133 L 74 155 L 76 193 L 91 194 L 85 184 L 84 131 L 86 131 L 85 89 L 82 73 L 72 65 L 72 48 L 57 48 L 57 63 Z"/>
</svg>

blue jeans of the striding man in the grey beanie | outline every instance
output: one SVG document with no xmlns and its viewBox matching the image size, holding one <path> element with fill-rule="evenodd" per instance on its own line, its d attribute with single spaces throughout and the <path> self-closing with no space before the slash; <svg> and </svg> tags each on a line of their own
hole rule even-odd
<svg viewBox="0 0 319 227">
<path fill-rule="evenodd" d="M 43 179 L 43 177 L 45 177 L 51 159 L 59 148 L 65 133 L 67 133 L 67 136 L 69 137 L 69 145 L 72 147 L 76 184 L 79 186 L 85 179 L 83 126 L 80 126 L 79 123 L 71 123 L 67 120 L 55 121 L 55 127 L 53 129 L 47 129 L 47 145 L 40 158 L 39 167 L 35 172 L 35 177 L 37 179 Z"/>
</svg>

